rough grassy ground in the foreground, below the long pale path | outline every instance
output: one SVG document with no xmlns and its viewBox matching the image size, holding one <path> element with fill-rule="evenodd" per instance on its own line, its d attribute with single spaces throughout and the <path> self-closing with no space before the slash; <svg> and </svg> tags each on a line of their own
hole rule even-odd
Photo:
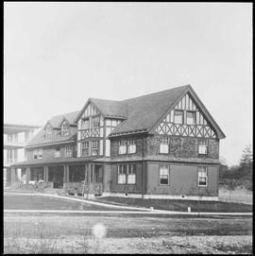
<svg viewBox="0 0 255 256">
<path fill-rule="evenodd" d="M 5 253 L 251 253 L 251 234 L 251 217 L 4 214 Z"/>
</svg>

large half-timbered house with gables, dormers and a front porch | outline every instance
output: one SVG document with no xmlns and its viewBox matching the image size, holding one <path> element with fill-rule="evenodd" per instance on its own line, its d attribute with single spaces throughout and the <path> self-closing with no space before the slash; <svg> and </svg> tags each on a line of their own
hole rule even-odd
<svg viewBox="0 0 255 256">
<path fill-rule="evenodd" d="M 87 196 L 217 199 L 225 134 L 190 85 L 127 100 L 89 98 L 26 145 L 26 180 Z"/>
</svg>

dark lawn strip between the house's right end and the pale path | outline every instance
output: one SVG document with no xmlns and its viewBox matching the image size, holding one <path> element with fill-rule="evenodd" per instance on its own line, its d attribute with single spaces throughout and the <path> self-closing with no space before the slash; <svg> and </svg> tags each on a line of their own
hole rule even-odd
<svg viewBox="0 0 255 256">
<path fill-rule="evenodd" d="M 106 196 L 96 198 L 101 202 L 108 202 L 119 205 L 128 205 L 134 207 L 154 207 L 157 210 L 168 210 L 187 212 L 188 207 L 191 207 L 191 212 L 204 213 L 252 213 L 252 205 L 220 202 L 220 201 L 196 201 L 196 200 L 171 200 L 171 199 L 142 199 L 128 198 L 117 196 Z"/>
</svg>

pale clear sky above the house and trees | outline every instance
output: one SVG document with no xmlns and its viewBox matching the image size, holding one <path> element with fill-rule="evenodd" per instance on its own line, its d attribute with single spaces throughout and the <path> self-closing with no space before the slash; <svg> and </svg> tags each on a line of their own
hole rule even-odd
<svg viewBox="0 0 255 256">
<path fill-rule="evenodd" d="M 238 164 L 253 135 L 251 3 L 4 3 L 5 123 L 186 84 Z"/>
</svg>

